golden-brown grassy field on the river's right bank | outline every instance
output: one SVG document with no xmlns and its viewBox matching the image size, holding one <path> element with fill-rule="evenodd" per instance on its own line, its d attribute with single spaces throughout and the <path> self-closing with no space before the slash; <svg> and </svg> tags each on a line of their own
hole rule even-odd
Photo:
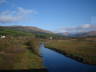
<svg viewBox="0 0 96 72">
<path fill-rule="evenodd" d="M 94 38 L 96 40 L 96 38 Z M 93 38 L 49 40 L 46 47 L 86 64 L 96 65 L 96 41 Z"/>
</svg>

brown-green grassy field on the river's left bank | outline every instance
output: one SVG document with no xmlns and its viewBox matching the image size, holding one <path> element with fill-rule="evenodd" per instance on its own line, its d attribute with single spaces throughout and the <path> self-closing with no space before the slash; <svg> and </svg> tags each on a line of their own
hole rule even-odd
<svg viewBox="0 0 96 72">
<path fill-rule="evenodd" d="M 43 68 L 38 39 L 30 36 L 0 38 L 0 70 Z"/>
</svg>

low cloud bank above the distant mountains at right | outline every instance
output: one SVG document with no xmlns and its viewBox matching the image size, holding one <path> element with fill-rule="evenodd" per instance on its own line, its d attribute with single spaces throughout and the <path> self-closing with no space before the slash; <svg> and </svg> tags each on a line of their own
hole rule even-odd
<svg viewBox="0 0 96 72">
<path fill-rule="evenodd" d="M 88 30 L 96 30 L 96 25 L 92 24 L 83 24 L 78 27 L 69 27 L 69 28 L 59 28 L 59 32 L 81 32 L 81 31 L 88 31 Z"/>
</svg>

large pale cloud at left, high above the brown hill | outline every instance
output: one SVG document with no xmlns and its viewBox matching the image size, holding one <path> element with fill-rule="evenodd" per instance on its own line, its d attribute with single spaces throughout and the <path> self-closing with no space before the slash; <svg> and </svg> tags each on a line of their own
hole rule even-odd
<svg viewBox="0 0 96 72">
<path fill-rule="evenodd" d="M 35 11 L 22 7 L 18 7 L 14 11 L 3 11 L 0 12 L 0 23 L 18 22 L 24 20 L 29 14 L 35 14 Z"/>
</svg>

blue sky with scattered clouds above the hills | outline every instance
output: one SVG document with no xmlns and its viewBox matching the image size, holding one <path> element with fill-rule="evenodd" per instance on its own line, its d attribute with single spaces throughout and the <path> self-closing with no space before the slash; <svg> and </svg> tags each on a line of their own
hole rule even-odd
<svg viewBox="0 0 96 72">
<path fill-rule="evenodd" d="M 0 0 L 0 25 L 53 32 L 96 30 L 96 0 Z"/>
</svg>

